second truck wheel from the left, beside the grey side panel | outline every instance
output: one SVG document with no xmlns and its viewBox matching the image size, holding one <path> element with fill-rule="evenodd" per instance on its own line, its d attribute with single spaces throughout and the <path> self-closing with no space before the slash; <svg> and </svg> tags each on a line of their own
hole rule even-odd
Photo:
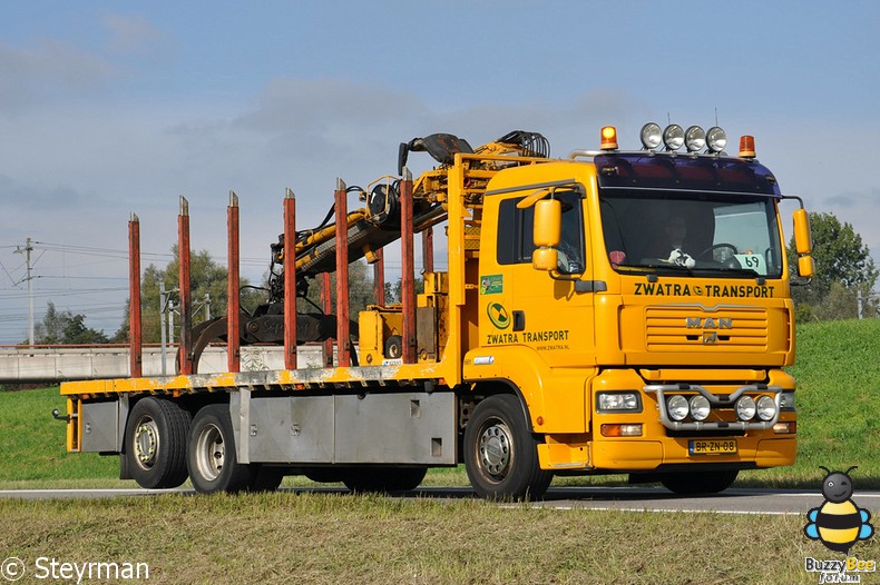
<svg viewBox="0 0 880 585">
<path fill-rule="evenodd" d="M 189 428 L 186 465 L 199 494 L 237 493 L 254 482 L 255 468 L 239 464 L 229 419 L 229 406 L 212 404 L 196 413 Z"/>
</svg>

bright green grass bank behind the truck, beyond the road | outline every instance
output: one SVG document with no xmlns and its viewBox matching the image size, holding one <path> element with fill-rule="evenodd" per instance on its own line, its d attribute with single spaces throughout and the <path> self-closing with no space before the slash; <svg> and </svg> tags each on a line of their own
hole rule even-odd
<svg viewBox="0 0 880 585">
<path fill-rule="evenodd" d="M 880 319 L 810 324 L 798 329 L 799 452 L 792 467 L 741 474 L 736 485 L 817 487 L 820 465 L 852 473 L 857 489 L 880 488 Z M 119 482 L 116 457 L 67 454 L 58 388 L 0 391 L 0 488 L 134 486 Z M 554 485 L 619 485 L 624 476 L 557 478 Z M 466 485 L 463 469 L 433 469 L 424 485 Z M 310 485 L 287 478 L 284 485 Z"/>
</svg>

